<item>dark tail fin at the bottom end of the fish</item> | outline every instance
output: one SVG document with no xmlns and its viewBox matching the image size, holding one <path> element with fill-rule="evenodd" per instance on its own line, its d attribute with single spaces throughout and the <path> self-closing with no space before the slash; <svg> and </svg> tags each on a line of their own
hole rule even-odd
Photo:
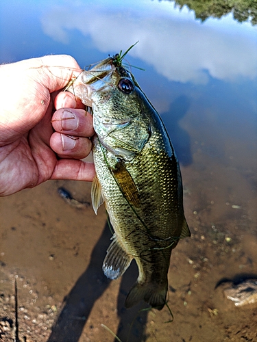
<svg viewBox="0 0 257 342">
<path fill-rule="evenodd" d="M 145 300 L 151 307 L 162 310 L 167 295 L 168 282 L 162 285 L 145 282 L 140 284 L 136 282 L 130 290 L 125 300 L 125 307 L 131 308 L 140 300 Z"/>
</svg>

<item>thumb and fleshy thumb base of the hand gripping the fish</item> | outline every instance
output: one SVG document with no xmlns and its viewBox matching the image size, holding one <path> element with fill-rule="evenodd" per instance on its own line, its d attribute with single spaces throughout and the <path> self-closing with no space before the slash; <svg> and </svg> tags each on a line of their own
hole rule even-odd
<svg viewBox="0 0 257 342">
<path fill-rule="evenodd" d="M 49 55 L 0 66 L 0 140 L 24 134 L 46 114 L 52 92 L 81 73 L 69 55 Z M 51 109 L 51 108 L 50 108 Z"/>
</svg>

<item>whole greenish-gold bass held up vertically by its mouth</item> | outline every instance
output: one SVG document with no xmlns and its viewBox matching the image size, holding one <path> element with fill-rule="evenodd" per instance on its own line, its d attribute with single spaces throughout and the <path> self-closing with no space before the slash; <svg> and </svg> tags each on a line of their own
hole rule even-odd
<svg viewBox="0 0 257 342">
<path fill-rule="evenodd" d="M 171 250 L 191 233 L 167 129 L 121 53 L 82 71 L 67 90 L 93 112 L 92 205 L 97 213 L 104 203 L 114 230 L 103 272 L 117 279 L 134 259 L 138 278 L 125 307 L 144 300 L 161 310 L 167 304 Z"/>
</svg>

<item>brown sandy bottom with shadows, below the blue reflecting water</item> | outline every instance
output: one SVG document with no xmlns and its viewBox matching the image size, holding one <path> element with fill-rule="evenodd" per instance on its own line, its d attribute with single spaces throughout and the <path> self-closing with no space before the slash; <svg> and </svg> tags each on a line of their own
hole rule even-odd
<svg viewBox="0 0 257 342">
<path fill-rule="evenodd" d="M 114 341 L 101 324 L 122 342 L 257 341 L 257 304 L 236 307 L 223 295 L 223 282 L 257 278 L 254 161 L 252 168 L 233 166 L 229 157 L 217 162 L 199 142 L 192 156 L 194 163 L 182 167 L 192 237 L 171 255 L 172 323 L 165 323 L 165 307 L 124 308 L 135 264 L 120 280 L 103 275 L 111 236 L 105 209 L 95 216 L 92 207 L 76 209 L 58 194 L 63 186 L 90 202 L 90 183 L 49 181 L 0 198 L 0 341 L 17 338 L 15 306 L 18 337 L 26 342 Z"/>
</svg>

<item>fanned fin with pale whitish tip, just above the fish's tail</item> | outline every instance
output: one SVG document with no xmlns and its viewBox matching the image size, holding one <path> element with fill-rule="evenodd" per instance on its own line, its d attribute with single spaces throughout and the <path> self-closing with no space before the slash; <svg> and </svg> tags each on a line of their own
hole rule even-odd
<svg viewBox="0 0 257 342">
<path fill-rule="evenodd" d="M 110 244 L 106 258 L 103 261 L 103 273 L 110 279 L 117 279 L 122 276 L 127 267 L 133 259 L 132 255 L 128 255 L 114 234 L 112 237 L 113 241 Z"/>
</svg>

